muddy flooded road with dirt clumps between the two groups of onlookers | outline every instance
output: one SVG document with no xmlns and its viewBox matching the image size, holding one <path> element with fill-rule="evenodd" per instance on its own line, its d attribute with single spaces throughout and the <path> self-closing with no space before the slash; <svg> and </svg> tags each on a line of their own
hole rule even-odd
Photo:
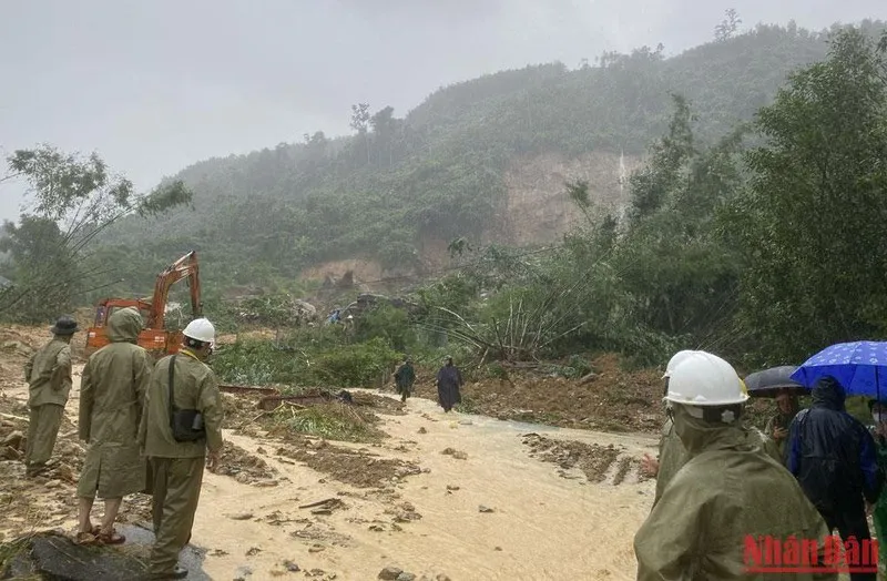
<svg viewBox="0 0 887 581">
<path fill-rule="evenodd" d="M 23 385 L 3 387 L 8 402 L 26 399 Z M 632 540 L 654 489 L 638 473 L 655 452 L 649 436 L 447 415 L 418 398 L 378 411 L 388 437 L 375 444 L 269 435 L 251 415 L 232 417 L 225 461 L 204 478 L 192 543 L 213 579 L 366 580 L 389 565 L 429 580 L 634 579 Z M 40 524 L 72 532 L 74 485 L 29 486 L 57 519 Z M 124 519 L 146 509 L 128 499 Z M 7 538 L 34 527 L 3 520 Z"/>
</svg>

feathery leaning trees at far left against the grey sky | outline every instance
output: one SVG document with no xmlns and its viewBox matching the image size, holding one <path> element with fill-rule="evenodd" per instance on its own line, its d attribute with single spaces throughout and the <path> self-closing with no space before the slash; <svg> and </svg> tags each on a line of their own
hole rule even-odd
<svg viewBox="0 0 887 581">
<path fill-rule="evenodd" d="M 68 310 L 78 290 L 106 276 L 113 265 L 91 265 L 85 252 L 108 226 L 130 214 L 159 215 L 191 202 L 181 181 L 136 195 L 93 153 L 86 157 L 50 145 L 18 150 L 10 174 L 27 182 L 28 205 L 19 225 L 7 222 L 0 251 L 12 261 L 14 287 L 0 295 L 0 314 L 39 320 Z"/>
</svg>

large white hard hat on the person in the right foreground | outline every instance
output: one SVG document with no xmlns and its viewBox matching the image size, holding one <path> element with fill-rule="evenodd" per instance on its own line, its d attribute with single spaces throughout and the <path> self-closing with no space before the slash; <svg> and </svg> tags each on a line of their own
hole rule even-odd
<svg viewBox="0 0 887 581">
<path fill-rule="evenodd" d="M 669 378 L 665 399 L 673 404 L 730 406 L 748 399 L 745 383 L 733 366 L 711 353 L 686 353 L 665 376 Z"/>
</svg>

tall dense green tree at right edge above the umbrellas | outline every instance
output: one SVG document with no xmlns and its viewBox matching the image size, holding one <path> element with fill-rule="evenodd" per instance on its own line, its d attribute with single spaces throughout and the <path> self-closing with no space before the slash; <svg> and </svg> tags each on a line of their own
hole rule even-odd
<svg viewBox="0 0 887 581">
<path fill-rule="evenodd" d="M 757 115 L 765 144 L 725 230 L 743 245 L 745 324 L 773 361 L 887 333 L 886 73 L 875 42 L 844 30 Z"/>
</svg>

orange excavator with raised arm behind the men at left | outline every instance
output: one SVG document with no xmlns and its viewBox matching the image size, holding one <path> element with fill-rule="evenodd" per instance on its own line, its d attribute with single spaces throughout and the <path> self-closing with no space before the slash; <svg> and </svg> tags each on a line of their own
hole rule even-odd
<svg viewBox="0 0 887 581">
<path fill-rule="evenodd" d="M 154 357 L 179 351 L 182 346 L 182 332 L 166 330 L 166 300 L 170 297 L 170 287 L 182 278 L 187 278 L 192 315 L 194 318 L 201 317 L 203 304 L 198 271 L 197 255 L 191 251 L 157 275 L 154 296 L 150 302 L 141 298 L 105 298 L 99 302 L 95 307 L 95 323 L 86 330 L 85 354 L 91 355 L 111 343 L 105 329 L 108 318 L 114 310 L 126 307 L 137 308 L 145 322 L 145 328 L 139 334 L 140 347 L 147 349 Z"/>
</svg>

